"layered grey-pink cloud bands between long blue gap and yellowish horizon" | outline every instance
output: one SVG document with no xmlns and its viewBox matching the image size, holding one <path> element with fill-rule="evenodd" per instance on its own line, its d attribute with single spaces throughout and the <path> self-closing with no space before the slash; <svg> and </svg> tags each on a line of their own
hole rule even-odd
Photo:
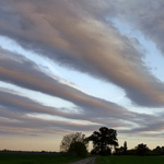
<svg viewBox="0 0 164 164">
<path fill-rule="evenodd" d="M 9 129 L 11 127 L 21 128 L 21 126 L 22 128 L 23 127 L 26 128 L 26 125 L 30 128 L 31 124 L 28 124 L 28 121 L 26 124 L 25 121 L 26 119 L 31 118 L 31 116 L 28 116 L 27 114 L 36 116 L 38 114 L 46 114 L 49 116 L 50 115 L 58 116 L 61 119 L 67 118 L 80 121 L 79 126 L 77 127 L 75 126 L 77 122 L 68 124 L 69 120 L 51 122 L 51 120 L 40 119 L 37 117 L 31 118 L 34 120 L 39 119 L 40 129 L 42 129 L 42 120 L 43 124 L 45 124 L 46 120 L 49 124 L 52 125 L 56 124 L 56 127 L 60 127 L 59 125 L 61 125 L 63 129 L 77 130 L 79 128 L 81 130 L 84 129 L 91 130 L 103 125 L 117 128 L 132 128 L 133 125 L 140 127 L 145 121 L 150 119 L 151 120 L 155 119 L 150 118 L 149 115 L 143 116 L 137 113 L 132 113 L 114 103 L 87 95 L 86 93 L 83 93 L 82 91 L 75 89 L 74 86 L 72 87 L 71 85 L 69 85 L 69 83 L 60 83 L 60 79 L 51 78 L 50 75 L 40 71 L 37 65 L 35 65 L 33 61 L 28 60 L 23 56 L 11 54 L 7 50 L 1 49 L 0 59 L 1 59 L 0 78 L 2 81 L 7 81 L 25 89 L 38 91 L 52 96 L 59 96 L 63 99 L 72 102 L 77 106 L 78 110 L 82 109 L 80 114 L 73 112 L 66 113 L 62 110 L 62 108 L 44 106 L 43 104 L 33 101 L 26 97 L 25 95 L 16 93 L 12 90 L 1 89 L 0 105 L 1 105 L 1 128 L 3 127 L 2 129 L 5 129 L 4 127 L 7 125 Z M 2 108 L 5 108 L 5 110 Z M 11 120 L 14 120 L 14 124 L 11 122 Z M 23 120 L 25 121 L 24 124 L 22 124 Z M 8 121 L 9 124 L 7 124 Z M 92 124 L 89 127 L 86 126 L 83 127 L 82 121 L 89 121 L 87 126 L 91 122 Z M 10 127 L 10 125 L 13 126 Z M 10 130 L 10 132 L 12 132 L 12 130 Z"/>
</svg>

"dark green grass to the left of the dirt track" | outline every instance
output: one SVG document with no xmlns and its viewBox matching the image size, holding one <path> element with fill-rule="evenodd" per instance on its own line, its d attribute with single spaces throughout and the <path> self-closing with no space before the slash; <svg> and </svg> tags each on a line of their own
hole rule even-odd
<svg viewBox="0 0 164 164">
<path fill-rule="evenodd" d="M 66 164 L 79 160 L 81 157 L 70 155 L 0 153 L 0 164 Z"/>
</svg>

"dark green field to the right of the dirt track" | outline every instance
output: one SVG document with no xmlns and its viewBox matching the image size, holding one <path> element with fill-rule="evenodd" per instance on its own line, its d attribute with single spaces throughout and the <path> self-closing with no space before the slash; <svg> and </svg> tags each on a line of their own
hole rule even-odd
<svg viewBox="0 0 164 164">
<path fill-rule="evenodd" d="M 99 156 L 96 164 L 164 164 L 164 156 Z"/>
</svg>

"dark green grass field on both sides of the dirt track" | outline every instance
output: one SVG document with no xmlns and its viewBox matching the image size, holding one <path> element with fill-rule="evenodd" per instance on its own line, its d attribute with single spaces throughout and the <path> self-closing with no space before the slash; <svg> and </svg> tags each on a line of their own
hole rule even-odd
<svg viewBox="0 0 164 164">
<path fill-rule="evenodd" d="M 0 164 L 67 164 L 79 160 L 50 153 L 0 153 Z M 164 164 L 164 156 L 98 156 L 96 164 Z"/>
</svg>

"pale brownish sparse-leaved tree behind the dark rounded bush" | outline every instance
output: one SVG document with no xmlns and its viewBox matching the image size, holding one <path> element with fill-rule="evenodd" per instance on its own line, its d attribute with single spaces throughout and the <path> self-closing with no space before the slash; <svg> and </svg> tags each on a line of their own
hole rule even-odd
<svg viewBox="0 0 164 164">
<path fill-rule="evenodd" d="M 61 152 L 68 152 L 70 149 L 70 145 L 74 142 L 82 142 L 87 148 L 87 141 L 85 138 L 85 134 L 82 132 L 75 132 L 63 136 L 61 143 L 60 143 L 60 151 Z"/>
</svg>

